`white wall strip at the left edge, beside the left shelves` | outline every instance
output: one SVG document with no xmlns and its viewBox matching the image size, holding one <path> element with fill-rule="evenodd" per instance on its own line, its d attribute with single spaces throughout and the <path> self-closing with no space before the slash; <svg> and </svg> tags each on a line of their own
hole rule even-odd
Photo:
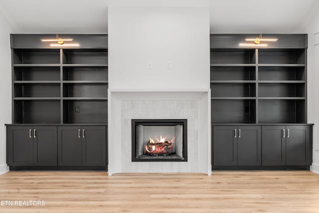
<svg viewBox="0 0 319 213">
<path fill-rule="evenodd" d="M 11 123 L 11 27 L 0 13 L 0 174 L 7 172 L 5 123 Z"/>
</svg>

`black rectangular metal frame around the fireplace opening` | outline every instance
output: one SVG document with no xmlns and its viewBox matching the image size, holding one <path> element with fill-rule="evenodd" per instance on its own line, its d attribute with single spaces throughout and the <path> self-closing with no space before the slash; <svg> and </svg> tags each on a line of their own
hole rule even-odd
<svg viewBox="0 0 319 213">
<path fill-rule="evenodd" d="M 136 156 L 136 126 L 175 126 L 183 128 L 183 158 L 182 159 L 140 159 Z M 132 119 L 132 162 L 187 162 L 187 119 Z"/>
</svg>

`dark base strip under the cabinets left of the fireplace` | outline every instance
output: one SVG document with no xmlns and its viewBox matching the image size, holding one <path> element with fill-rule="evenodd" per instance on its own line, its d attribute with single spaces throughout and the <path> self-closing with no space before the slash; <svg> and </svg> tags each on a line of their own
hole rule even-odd
<svg viewBox="0 0 319 213">
<path fill-rule="evenodd" d="M 107 167 L 10 167 L 10 171 L 58 171 L 58 170 L 99 170 L 99 171 L 107 171 Z"/>
</svg>

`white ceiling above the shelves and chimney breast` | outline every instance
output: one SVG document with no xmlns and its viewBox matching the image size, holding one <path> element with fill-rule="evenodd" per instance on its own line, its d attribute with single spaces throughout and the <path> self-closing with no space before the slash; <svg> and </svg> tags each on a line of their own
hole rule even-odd
<svg viewBox="0 0 319 213">
<path fill-rule="evenodd" d="M 207 6 L 211 33 L 299 33 L 319 0 L 0 0 L 14 33 L 106 33 L 108 6 Z"/>
</svg>

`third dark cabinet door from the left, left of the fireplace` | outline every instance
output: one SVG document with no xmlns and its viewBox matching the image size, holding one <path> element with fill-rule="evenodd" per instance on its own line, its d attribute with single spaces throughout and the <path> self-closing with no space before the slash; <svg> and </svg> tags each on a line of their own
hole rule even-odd
<svg viewBox="0 0 319 213">
<path fill-rule="evenodd" d="M 81 127 L 58 127 L 58 166 L 81 166 Z"/>
</svg>

